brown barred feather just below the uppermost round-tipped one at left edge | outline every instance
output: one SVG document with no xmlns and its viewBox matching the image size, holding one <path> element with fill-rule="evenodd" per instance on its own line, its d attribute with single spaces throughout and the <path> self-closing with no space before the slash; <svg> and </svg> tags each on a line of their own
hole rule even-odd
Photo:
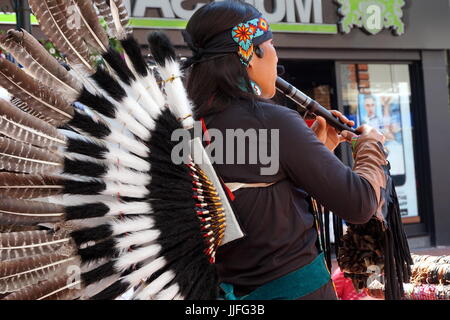
<svg viewBox="0 0 450 320">
<path fill-rule="evenodd" d="M 62 125 L 73 116 L 73 108 L 66 100 L 6 59 L 0 59 L 0 86 L 46 116 L 51 124 Z"/>
</svg>

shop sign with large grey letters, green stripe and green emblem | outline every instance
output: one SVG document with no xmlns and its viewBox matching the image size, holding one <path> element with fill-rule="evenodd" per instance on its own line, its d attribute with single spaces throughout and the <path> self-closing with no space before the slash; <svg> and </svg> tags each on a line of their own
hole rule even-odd
<svg viewBox="0 0 450 320">
<path fill-rule="evenodd" d="M 263 13 L 274 32 L 337 34 L 339 25 L 343 33 L 349 33 L 355 26 L 364 28 L 370 34 L 377 34 L 384 28 L 392 28 L 396 35 L 404 33 L 401 20 L 404 0 L 245 1 Z M 191 8 L 186 9 L 185 2 L 190 2 Z M 195 3 L 192 0 L 124 0 L 124 3 L 131 15 L 131 26 L 139 29 L 184 29 L 194 12 L 205 5 L 204 2 Z M 335 4 L 339 6 L 339 23 L 325 23 L 323 9 L 335 10 Z M 158 16 L 148 17 L 148 10 L 157 12 Z M 0 13 L 0 23 L 14 24 L 15 20 L 13 13 Z M 37 23 L 33 16 L 32 23 Z"/>
</svg>

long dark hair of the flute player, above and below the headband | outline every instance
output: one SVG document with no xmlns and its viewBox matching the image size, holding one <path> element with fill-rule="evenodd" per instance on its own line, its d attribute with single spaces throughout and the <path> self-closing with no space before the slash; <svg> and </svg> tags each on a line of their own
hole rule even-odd
<svg viewBox="0 0 450 320">
<path fill-rule="evenodd" d="M 195 12 L 186 31 L 197 48 L 204 48 L 215 35 L 230 29 L 231 36 L 231 28 L 258 13 L 255 7 L 239 0 L 212 2 Z M 253 104 L 259 100 L 237 53 L 194 64 L 188 72 L 187 91 L 194 103 L 196 119 L 224 110 L 237 98 Z"/>
</svg>

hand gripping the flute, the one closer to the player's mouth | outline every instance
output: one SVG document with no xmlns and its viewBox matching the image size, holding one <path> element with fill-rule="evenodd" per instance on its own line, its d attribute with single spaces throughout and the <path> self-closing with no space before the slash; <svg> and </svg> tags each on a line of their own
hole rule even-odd
<svg viewBox="0 0 450 320">
<path fill-rule="evenodd" d="M 330 110 L 330 112 L 338 117 L 343 123 L 347 124 L 349 127 L 353 127 L 355 125 L 354 121 L 350 121 L 344 116 L 341 112 L 337 110 Z M 317 116 L 316 121 L 314 121 L 311 129 L 316 134 L 317 138 L 322 141 L 322 143 L 330 150 L 334 151 L 336 147 L 344 141 L 348 141 L 344 136 L 340 135 L 338 131 L 330 126 L 325 118 Z M 350 142 L 350 141 L 349 141 Z"/>
</svg>

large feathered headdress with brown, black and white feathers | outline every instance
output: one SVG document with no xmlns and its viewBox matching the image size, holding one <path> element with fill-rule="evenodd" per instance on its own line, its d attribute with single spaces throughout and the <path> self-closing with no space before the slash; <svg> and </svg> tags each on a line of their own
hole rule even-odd
<svg viewBox="0 0 450 320">
<path fill-rule="evenodd" d="M 149 38 L 163 93 L 121 0 L 29 3 L 71 68 L 26 31 L 0 39 L 24 66 L 0 60 L 0 294 L 216 298 L 215 252 L 242 231 L 201 141 L 172 161 L 193 125 L 173 46 Z"/>
</svg>

